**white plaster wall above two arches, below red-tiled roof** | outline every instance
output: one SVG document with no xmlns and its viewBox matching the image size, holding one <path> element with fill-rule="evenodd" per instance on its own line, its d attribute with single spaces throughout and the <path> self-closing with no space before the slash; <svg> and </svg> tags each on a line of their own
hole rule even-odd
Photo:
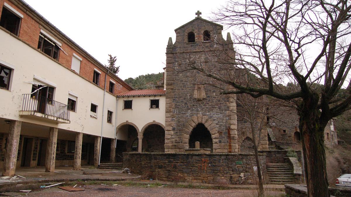
<svg viewBox="0 0 351 197">
<path fill-rule="evenodd" d="M 159 99 L 159 109 L 149 109 L 150 99 Z M 128 100 L 133 100 L 132 109 L 123 109 L 123 100 L 127 97 L 118 97 L 117 126 L 123 122 L 131 122 L 137 125 L 139 131 L 145 124 L 156 121 L 165 125 L 166 96 L 134 96 Z M 122 135 L 117 134 L 117 139 L 122 140 Z"/>
</svg>

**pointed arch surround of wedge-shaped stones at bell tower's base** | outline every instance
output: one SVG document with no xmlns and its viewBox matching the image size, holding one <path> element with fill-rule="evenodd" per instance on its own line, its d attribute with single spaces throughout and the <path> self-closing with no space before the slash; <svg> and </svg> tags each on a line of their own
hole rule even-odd
<svg viewBox="0 0 351 197">
<path fill-rule="evenodd" d="M 216 149 L 216 144 L 218 144 L 219 137 L 216 123 L 214 123 L 210 118 L 208 118 L 208 116 L 203 115 L 193 116 L 185 124 L 182 135 L 182 143 L 184 144 L 185 149 L 189 148 L 189 139 L 191 132 L 198 124 L 203 124 L 207 128 L 207 130 L 210 131 L 213 149 Z M 213 150 L 213 152 L 215 151 Z"/>
</svg>

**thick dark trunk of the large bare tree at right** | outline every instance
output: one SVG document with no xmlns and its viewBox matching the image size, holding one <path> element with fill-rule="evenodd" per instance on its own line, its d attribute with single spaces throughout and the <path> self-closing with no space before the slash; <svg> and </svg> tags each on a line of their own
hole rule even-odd
<svg viewBox="0 0 351 197">
<path fill-rule="evenodd" d="M 307 196 L 329 197 L 324 149 L 326 123 L 320 122 L 318 99 L 317 94 L 304 98 L 299 110 L 299 129 L 305 160 Z"/>
</svg>

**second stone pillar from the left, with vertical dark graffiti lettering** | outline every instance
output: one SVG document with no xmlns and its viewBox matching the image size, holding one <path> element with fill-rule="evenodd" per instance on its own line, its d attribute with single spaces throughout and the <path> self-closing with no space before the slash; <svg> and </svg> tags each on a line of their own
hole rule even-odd
<svg viewBox="0 0 351 197">
<path fill-rule="evenodd" d="M 57 132 L 58 128 L 50 127 L 49 139 L 46 147 L 46 158 L 45 158 L 45 172 L 55 171 L 55 158 L 56 158 L 56 147 L 57 147 Z"/>
</svg>

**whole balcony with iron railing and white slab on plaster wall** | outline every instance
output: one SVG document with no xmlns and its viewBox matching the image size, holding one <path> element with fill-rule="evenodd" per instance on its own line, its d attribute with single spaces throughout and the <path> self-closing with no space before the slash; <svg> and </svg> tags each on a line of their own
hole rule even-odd
<svg viewBox="0 0 351 197">
<path fill-rule="evenodd" d="M 55 123 L 71 123 L 69 111 L 66 104 L 44 96 L 23 94 L 20 115 Z"/>
</svg>

